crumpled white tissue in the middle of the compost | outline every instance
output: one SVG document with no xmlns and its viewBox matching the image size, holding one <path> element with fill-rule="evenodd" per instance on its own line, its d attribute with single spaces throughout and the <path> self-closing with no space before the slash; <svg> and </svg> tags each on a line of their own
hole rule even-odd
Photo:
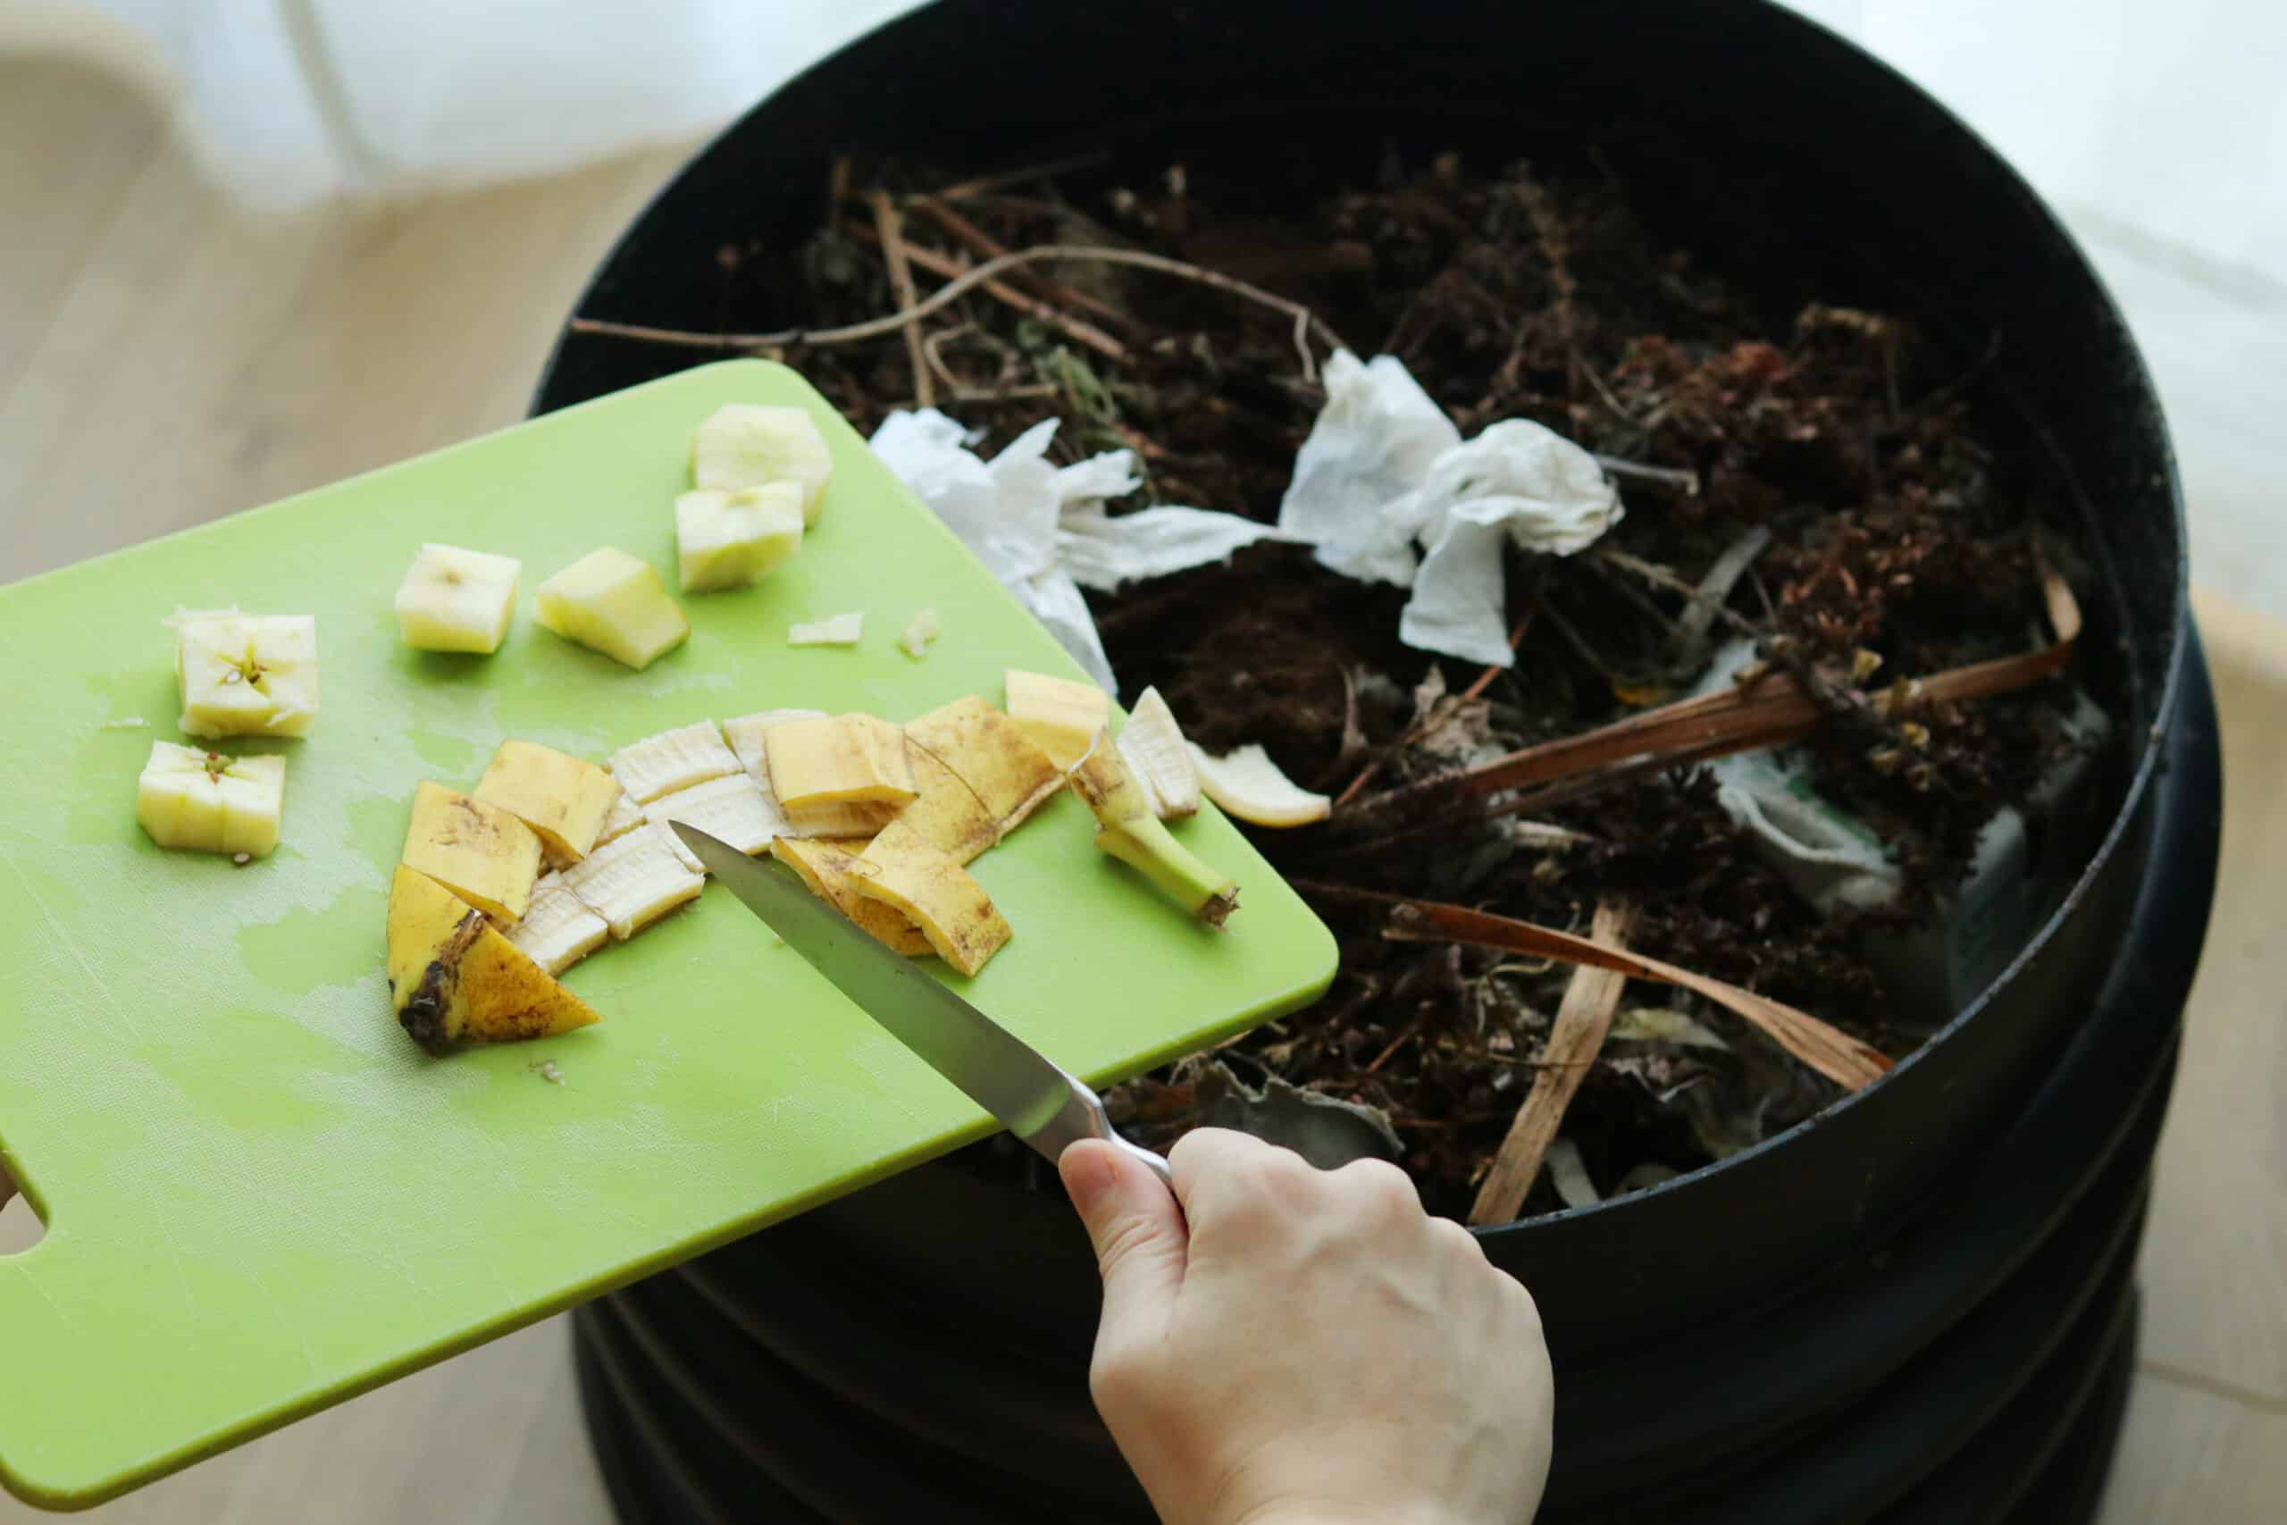
<svg viewBox="0 0 2287 1525">
<path fill-rule="evenodd" d="M 1397 357 L 1345 350 L 1326 361 L 1278 528 L 1345 576 L 1411 588 L 1409 647 L 1507 668 L 1503 546 L 1571 556 L 1621 512 L 1596 457 L 1555 430 L 1505 418 L 1461 441 Z"/>
</svg>

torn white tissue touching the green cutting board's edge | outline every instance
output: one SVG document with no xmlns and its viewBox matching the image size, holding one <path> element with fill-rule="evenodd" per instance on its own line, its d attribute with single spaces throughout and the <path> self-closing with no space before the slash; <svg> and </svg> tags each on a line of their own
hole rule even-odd
<svg viewBox="0 0 2287 1525">
<path fill-rule="evenodd" d="M 1043 418 L 990 462 L 970 450 L 983 430 L 965 430 L 933 407 L 892 412 L 869 444 L 1073 661 L 1105 693 L 1118 693 L 1082 588 L 1114 592 L 1137 578 L 1224 560 L 1258 540 L 1294 535 L 1201 508 L 1109 514 L 1107 501 L 1141 485 L 1134 453 L 1105 450 L 1073 466 L 1052 466 L 1047 446 L 1057 423 Z"/>
</svg>

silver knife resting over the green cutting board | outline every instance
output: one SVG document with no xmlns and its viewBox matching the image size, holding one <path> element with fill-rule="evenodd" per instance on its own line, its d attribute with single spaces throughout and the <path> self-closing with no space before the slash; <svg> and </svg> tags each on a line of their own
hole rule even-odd
<svg viewBox="0 0 2287 1525">
<path fill-rule="evenodd" d="M 1105 1139 L 1173 1187 L 1166 1159 L 1121 1139 L 1102 1097 L 1077 1077 L 963 1001 L 910 958 L 876 942 L 791 871 L 748 857 L 684 821 L 672 825 L 716 880 L 784 937 L 810 967 L 832 981 L 858 1011 L 1050 1164 L 1077 1139 Z"/>
</svg>

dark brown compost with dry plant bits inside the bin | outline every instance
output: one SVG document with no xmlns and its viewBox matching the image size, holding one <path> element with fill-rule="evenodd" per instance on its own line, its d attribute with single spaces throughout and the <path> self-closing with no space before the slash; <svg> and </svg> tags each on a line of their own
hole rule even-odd
<svg viewBox="0 0 2287 1525">
<path fill-rule="evenodd" d="M 1610 176 L 1386 155 L 1356 165 L 1338 194 L 1281 206 L 1262 174 L 1235 158 L 1150 183 L 1034 176 L 935 199 L 947 181 L 924 167 L 846 169 L 837 219 L 805 249 L 720 251 L 725 309 L 784 309 L 794 281 L 814 327 L 897 311 L 862 194 L 880 185 L 901 206 L 901 238 L 940 263 L 1043 242 L 1157 251 L 1308 304 L 1361 359 L 1397 354 L 1464 437 L 1523 416 L 1651 469 L 1617 471 L 1626 517 L 1594 549 L 1512 556 L 1523 636 L 1516 663 L 1489 679 L 1397 640 L 1402 590 L 1347 581 L 1297 546 L 1089 594 L 1125 702 L 1157 686 L 1208 750 L 1262 743 L 1326 793 L 1368 766 L 1372 796 L 1676 697 L 1736 633 L 1814 693 L 2042 640 L 2035 526 L 2049 526 L 2045 553 L 2067 572 L 2070 535 L 2058 540 L 2063 514 L 2031 446 L 1978 405 L 1976 354 L 1933 352 L 1903 316 L 1825 304 L 1834 293 L 1750 297 L 1715 251 L 1649 233 Z M 924 295 L 938 284 L 919 279 Z M 775 300 L 757 295 L 771 286 Z M 1059 416 L 1057 460 L 1137 450 L 1146 485 L 1116 508 L 1276 519 L 1322 400 L 1290 318 L 1111 265 L 1029 265 L 1006 286 L 1091 325 L 1123 359 L 986 293 L 935 313 L 924 329 L 942 366 L 935 405 L 986 430 L 981 455 Z M 862 432 L 915 405 L 899 334 L 787 359 Z M 1706 631 L 1679 629 L 1690 590 L 1756 528 L 1770 544 L 1722 613 Z M 1875 825 L 1907 871 L 1896 919 L 1933 915 L 1992 809 L 2058 757 L 2061 690 L 2049 681 L 1914 725 L 1846 709 L 1814 736 L 1820 791 Z M 1388 942 L 1381 912 L 1342 887 L 1576 931 L 1599 896 L 1626 896 L 1631 947 L 1798 1004 L 1894 1059 L 1917 1043 L 1878 1015 L 1887 992 L 1857 928 L 1823 921 L 1761 864 L 1706 771 L 1605 789 L 1525 825 L 1484 816 L 1379 846 L 1324 828 L 1249 830 L 1336 928 L 1342 967 L 1317 1006 L 1224 1059 L 1251 1079 L 1274 1072 L 1381 1109 L 1436 1212 L 1468 1209 L 1569 969 Z M 1633 1008 L 1688 1013 L 1722 1045 L 1605 1045 L 1564 1123 L 1605 1193 L 1706 1164 L 1836 1095 L 1695 997 L 1637 983 L 1624 1022 Z M 1164 1148 L 1196 1118 L 1194 1079 L 1194 1063 L 1139 1077 L 1114 1093 L 1116 1116 Z M 1025 1168 L 1013 1152 L 1006 1164 Z M 1525 1212 L 1555 1205 L 1544 1173 Z"/>
</svg>

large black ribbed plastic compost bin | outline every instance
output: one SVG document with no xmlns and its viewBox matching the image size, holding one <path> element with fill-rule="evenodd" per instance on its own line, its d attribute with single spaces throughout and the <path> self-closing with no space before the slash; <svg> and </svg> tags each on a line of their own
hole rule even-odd
<svg viewBox="0 0 2287 1525">
<path fill-rule="evenodd" d="M 1356 144 L 1322 158 L 1358 162 L 1466 142 L 1541 162 L 1594 149 L 1727 274 L 1903 311 L 1965 368 L 1999 336 L 1981 386 L 2038 441 L 2097 569 L 2077 677 L 2125 720 L 2109 825 L 2008 972 L 1875 1086 L 1718 1166 L 1482 1241 L 1532 1285 L 1557 1354 L 1548 1518 L 2070 1518 L 2042 1509 L 2109 1454 L 2221 796 L 2150 377 L 2008 165 L 1791 11 L 1434 0 L 1397 32 L 1377 7 L 1299 0 L 942 0 L 723 133 L 579 313 L 800 325 L 796 290 L 732 281 L 718 249 L 796 247 L 844 153 L 986 174 L 1107 151 L 1111 185 L 1219 144 L 1278 176 L 1301 144 Z M 535 412 L 700 359 L 567 334 Z M 1141 1518 L 1086 1408 L 1095 1299 L 1061 1198 L 931 1161 L 588 1310 L 597 1445 L 631 1518 L 782 1498 L 789 1518 L 887 1520 L 924 1493 L 940 1518 Z M 2019 1340 L 1974 1338 L 1997 1310 L 2017 1310 Z M 2001 1434 L 2019 1445 L 1981 1438 Z"/>
</svg>

